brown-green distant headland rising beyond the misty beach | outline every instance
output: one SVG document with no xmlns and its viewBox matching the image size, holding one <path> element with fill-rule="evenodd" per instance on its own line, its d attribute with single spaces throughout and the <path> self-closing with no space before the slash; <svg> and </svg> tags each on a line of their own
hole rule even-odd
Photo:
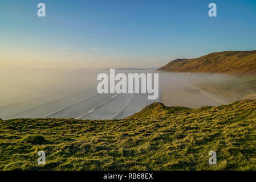
<svg viewBox="0 0 256 182">
<path fill-rule="evenodd" d="M 256 74 L 256 51 L 214 52 L 194 59 L 176 59 L 157 70 Z"/>
</svg>

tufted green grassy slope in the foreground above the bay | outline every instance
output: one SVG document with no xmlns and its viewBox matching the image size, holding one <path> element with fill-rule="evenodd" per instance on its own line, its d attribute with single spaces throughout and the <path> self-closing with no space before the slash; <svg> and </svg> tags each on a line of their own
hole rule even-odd
<svg viewBox="0 0 256 182">
<path fill-rule="evenodd" d="M 255 170 L 255 115 L 256 101 L 245 100 L 200 109 L 154 103 L 120 120 L 0 121 L 0 169 Z"/>
</svg>

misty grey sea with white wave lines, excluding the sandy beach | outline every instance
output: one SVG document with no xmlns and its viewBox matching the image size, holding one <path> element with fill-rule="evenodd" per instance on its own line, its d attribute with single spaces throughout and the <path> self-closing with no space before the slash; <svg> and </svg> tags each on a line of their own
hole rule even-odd
<svg viewBox="0 0 256 182">
<path fill-rule="evenodd" d="M 0 118 L 124 118 L 160 101 L 141 93 L 99 94 L 99 73 L 109 70 L 1 71 Z"/>
</svg>

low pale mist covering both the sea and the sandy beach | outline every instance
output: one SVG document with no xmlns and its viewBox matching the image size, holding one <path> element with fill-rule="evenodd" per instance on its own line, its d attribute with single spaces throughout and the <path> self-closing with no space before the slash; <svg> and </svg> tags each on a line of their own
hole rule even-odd
<svg viewBox="0 0 256 182">
<path fill-rule="evenodd" d="M 116 69 L 116 73 L 156 73 L 149 69 Z M 96 77 L 108 69 L 52 69 L 0 71 L 0 118 L 119 119 L 152 102 L 166 106 L 217 106 L 230 98 L 198 87 L 227 83 L 235 78 L 219 74 L 159 72 L 159 98 L 147 94 L 99 94 Z"/>
</svg>

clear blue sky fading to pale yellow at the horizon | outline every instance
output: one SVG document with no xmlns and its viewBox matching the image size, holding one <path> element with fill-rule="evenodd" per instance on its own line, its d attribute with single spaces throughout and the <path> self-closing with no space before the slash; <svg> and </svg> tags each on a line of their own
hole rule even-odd
<svg viewBox="0 0 256 182">
<path fill-rule="evenodd" d="M 159 68 L 256 49 L 255 0 L 2 0 L 0 23 L 0 69 Z"/>
</svg>

